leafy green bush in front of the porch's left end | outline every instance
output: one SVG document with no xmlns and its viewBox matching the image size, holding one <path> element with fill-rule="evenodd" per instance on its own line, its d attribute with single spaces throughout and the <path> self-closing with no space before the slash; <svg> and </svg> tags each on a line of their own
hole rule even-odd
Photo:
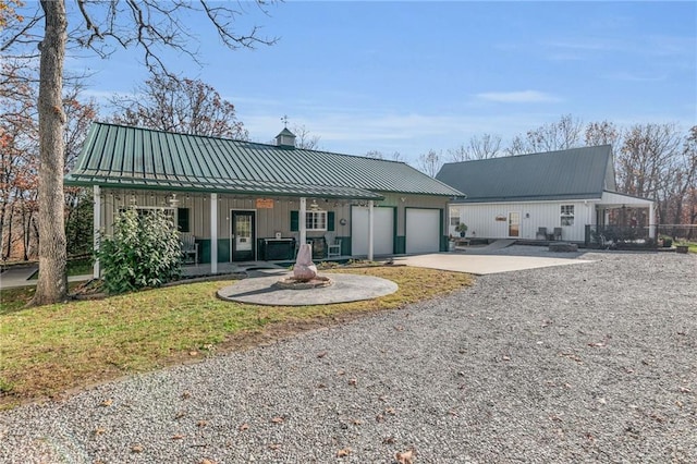
<svg viewBox="0 0 697 464">
<path fill-rule="evenodd" d="M 97 258 L 110 294 L 160 286 L 181 274 L 180 235 L 161 209 L 138 215 L 130 208 L 119 213 L 113 236 L 100 242 Z"/>
</svg>

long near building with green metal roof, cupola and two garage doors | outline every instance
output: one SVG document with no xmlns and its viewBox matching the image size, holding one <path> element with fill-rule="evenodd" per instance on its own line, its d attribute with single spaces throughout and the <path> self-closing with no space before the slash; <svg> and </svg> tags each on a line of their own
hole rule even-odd
<svg viewBox="0 0 697 464">
<path fill-rule="evenodd" d="M 369 259 L 445 249 L 448 202 L 462 195 L 403 162 L 297 148 L 288 129 L 269 145 L 107 123 L 91 125 L 65 184 L 93 187 L 106 234 L 124 208 L 164 208 L 211 272 L 292 259 L 305 242 L 317 258 L 329 244 Z"/>
</svg>

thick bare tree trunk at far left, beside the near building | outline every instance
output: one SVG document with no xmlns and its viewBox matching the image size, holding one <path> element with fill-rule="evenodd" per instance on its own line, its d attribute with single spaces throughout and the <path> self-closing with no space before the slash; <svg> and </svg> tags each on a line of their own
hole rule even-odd
<svg viewBox="0 0 697 464">
<path fill-rule="evenodd" d="M 63 224 L 63 61 L 68 19 L 65 0 L 41 0 L 46 34 L 40 45 L 39 84 L 39 280 L 33 305 L 68 295 Z"/>
</svg>

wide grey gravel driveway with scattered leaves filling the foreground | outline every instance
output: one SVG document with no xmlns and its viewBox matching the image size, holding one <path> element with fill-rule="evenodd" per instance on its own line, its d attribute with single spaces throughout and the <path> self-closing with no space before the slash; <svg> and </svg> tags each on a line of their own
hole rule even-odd
<svg viewBox="0 0 697 464">
<path fill-rule="evenodd" d="M 0 462 L 697 462 L 697 256 L 578 259 L 0 413 Z"/>
</svg>

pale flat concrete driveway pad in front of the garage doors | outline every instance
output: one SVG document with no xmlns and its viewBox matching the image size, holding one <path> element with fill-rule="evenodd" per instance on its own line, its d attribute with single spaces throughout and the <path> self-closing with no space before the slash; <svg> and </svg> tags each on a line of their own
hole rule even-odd
<svg viewBox="0 0 697 464">
<path fill-rule="evenodd" d="M 588 259 L 546 258 L 537 256 L 466 255 L 460 253 L 433 253 L 430 255 L 405 256 L 394 259 L 395 264 L 423 268 L 467 272 L 476 276 L 511 272 L 523 269 L 546 268 L 592 262 Z"/>
</svg>

